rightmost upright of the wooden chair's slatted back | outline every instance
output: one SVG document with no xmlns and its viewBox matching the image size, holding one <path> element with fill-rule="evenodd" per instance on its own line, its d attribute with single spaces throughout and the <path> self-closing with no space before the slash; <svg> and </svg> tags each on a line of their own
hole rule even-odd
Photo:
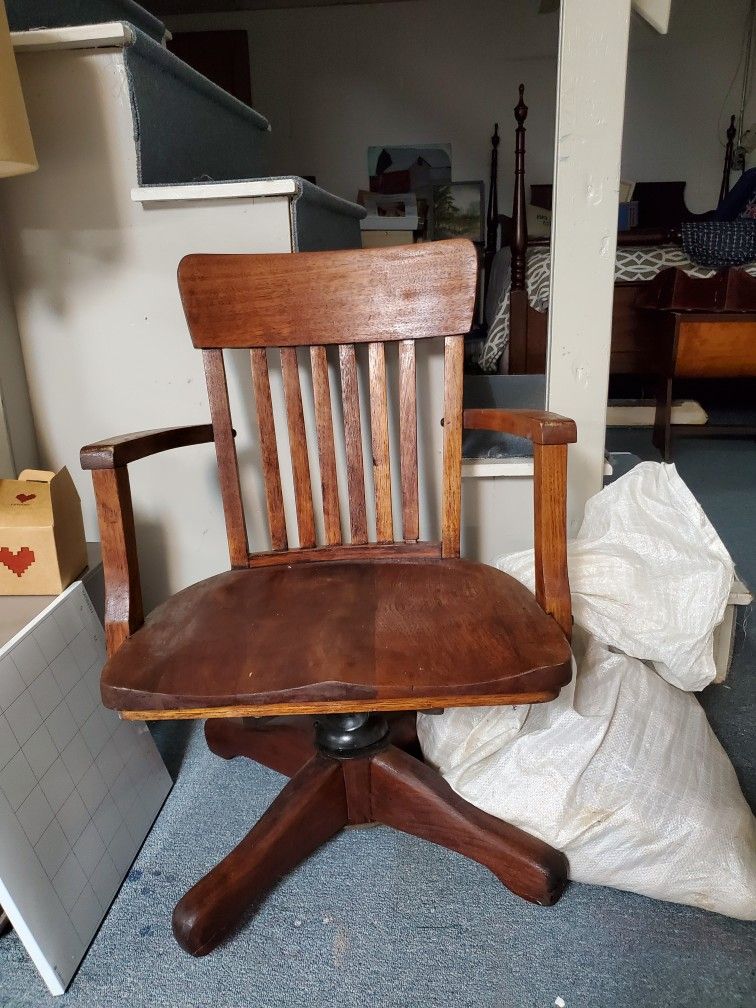
<svg viewBox="0 0 756 1008">
<path fill-rule="evenodd" d="M 444 357 L 444 491 L 442 556 L 460 555 L 462 510 L 462 381 L 465 340 L 448 336 Z"/>
</svg>

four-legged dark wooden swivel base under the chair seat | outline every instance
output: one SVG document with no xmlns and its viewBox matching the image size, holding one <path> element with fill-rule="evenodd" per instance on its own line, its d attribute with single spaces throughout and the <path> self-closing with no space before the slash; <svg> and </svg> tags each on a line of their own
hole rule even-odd
<svg viewBox="0 0 756 1008">
<path fill-rule="evenodd" d="M 381 823 L 457 851 L 518 896 L 550 906 L 568 862 L 543 841 L 456 794 L 417 752 L 414 715 L 329 715 L 208 721 L 211 750 L 248 756 L 290 780 L 244 840 L 179 900 L 176 940 L 205 956 L 232 934 L 268 891 L 347 826 Z M 409 751 L 408 751 L 409 750 Z"/>
</svg>

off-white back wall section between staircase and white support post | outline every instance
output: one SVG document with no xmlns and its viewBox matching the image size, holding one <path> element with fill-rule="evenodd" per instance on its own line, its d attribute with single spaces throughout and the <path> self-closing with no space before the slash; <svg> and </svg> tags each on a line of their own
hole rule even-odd
<svg viewBox="0 0 756 1008">
<path fill-rule="evenodd" d="M 451 142 L 454 176 L 488 179 L 495 120 L 511 205 L 512 109 L 526 84 L 530 178 L 548 180 L 555 14 L 537 0 L 414 0 L 167 18 L 171 28 L 249 29 L 253 102 L 273 129 L 275 170 L 314 174 L 354 200 L 371 144 Z"/>
</svg>

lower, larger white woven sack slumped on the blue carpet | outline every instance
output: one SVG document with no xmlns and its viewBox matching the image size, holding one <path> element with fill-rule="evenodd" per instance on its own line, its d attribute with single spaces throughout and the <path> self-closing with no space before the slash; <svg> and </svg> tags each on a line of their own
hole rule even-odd
<svg viewBox="0 0 756 1008">
<path fill-rule="evenodd" d="M 550 704 L 418 715 L 427 761 L 579 882 L 756 918 L 756 821 L 698 700 L 576 631 Z"/>
</svg>

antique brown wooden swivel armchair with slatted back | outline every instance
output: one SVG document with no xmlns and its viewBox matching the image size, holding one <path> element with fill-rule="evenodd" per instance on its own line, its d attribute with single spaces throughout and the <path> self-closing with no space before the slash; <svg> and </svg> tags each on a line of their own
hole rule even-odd
<svg viewBox="0 0 756 1008">
<path fill-rule="evenodd" d="M 538 412 L 463 416 L 458 334 L 470 327 L 476 271 L 466 241 L 190 255 L 178 283 L 193 343 L 204 355 L 212 427 L 130 434 L 82 451 L 84 468 L 93 471 L 107 584 L 104 703 L 124 718 L 210 719 L 214 752 L 249 756 L 291 777 L 248 836 L 177 904 L 173 930 L 195 956 L 216 948 L 281 876 L 349 824 L 383 823 L 451 848 L 536 903 L 555 902 L 565 885 L 564 857 L 455 794 L 422 762 L 413 729 L 415 711 L 540 703 L 571 676 L 564 494 L 575 424 Z M 446 338 L 440 542 L 421 541 L 418 527 L 415 341 L 431 337 Z M 356 364 L 356 345 L 364 343 L 375 535 Z M 391 504 L 397 474 L 387 343 L 398 344 L 400 534 Z M 299 347 L 309 348 L 311 364 L 321 544 Z M 341 375 L 348 516 L 340 513 L 329 347 L 338 351 Z M 272 546 L 266 552 L 249 551 L 225 348 L 250 351 Z M 296 546 L 283 510 L 268 348 L 280 354 Z M 460 558 L 463 422 L 534 443 L 535 598 L 499 571 Z M 127 466 L 213 439 L 232 570 L 178 592 L 144 620 Z"/>
</svg>

